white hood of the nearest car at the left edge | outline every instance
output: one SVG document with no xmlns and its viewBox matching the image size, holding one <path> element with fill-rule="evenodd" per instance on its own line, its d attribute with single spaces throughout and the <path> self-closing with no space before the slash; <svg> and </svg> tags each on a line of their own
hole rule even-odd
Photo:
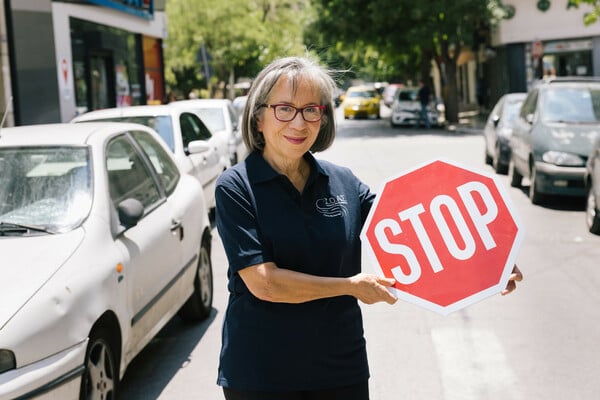
<svg viewBox="0 0 600 400">
<path fill-rule="evenodd" d="M 0 239 L 0 329 L 52 278 L 83 238 L 83 230 Z"/>
</svg>

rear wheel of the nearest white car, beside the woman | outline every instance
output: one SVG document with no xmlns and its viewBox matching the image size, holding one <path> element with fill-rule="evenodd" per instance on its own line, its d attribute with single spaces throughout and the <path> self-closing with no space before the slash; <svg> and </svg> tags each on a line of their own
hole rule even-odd
<svg viewBox="0 0 600 400">
<path fill-rule="evenodd" d="M 210 247 L 206 241 L 203 241 L 194 278 L 194 292 L 179 310 L 179 317 L 189 322 L 202 321 L 210 314 L 212 301 L 213 273 Z"/>
</svg>

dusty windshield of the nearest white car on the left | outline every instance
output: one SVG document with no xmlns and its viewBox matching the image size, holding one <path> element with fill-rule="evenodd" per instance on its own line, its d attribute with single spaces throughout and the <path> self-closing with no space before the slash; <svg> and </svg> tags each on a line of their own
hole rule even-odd
<svg viewBox="0 0 600 400">
<path fill-rule="evenodd" d="M 0 148 L 0 170 L 0 236 L 67 232 L 90 212 L 87 147 Z"/>
</svg>

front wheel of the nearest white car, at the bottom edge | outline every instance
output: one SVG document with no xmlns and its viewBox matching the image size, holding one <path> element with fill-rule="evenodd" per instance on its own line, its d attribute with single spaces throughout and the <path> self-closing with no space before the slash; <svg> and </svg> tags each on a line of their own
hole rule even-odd
<svg viewBox="0 0 600 400">
<path fill-rule="evenodd" d="M 85 371 L 81 379 L 80 400 L 117 399 L 119 370 L 115 347 L 108 330 L 96 329 L 85 352 Z"/>
</svg>

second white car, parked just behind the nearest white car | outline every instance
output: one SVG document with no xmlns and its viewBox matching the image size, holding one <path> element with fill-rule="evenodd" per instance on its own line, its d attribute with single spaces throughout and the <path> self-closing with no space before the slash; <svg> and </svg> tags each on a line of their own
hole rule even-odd
<svg viewBox="0 0 600 400">
<path fill-rule="evenodd" d="M 149 126 L 158 132 L 175 155 L 183 170 L 198 178 L 210 210 L 215 209 L 217 177 L 228 164 L 218 153 L 220 140 L 198 115 L 173 103 L 154 106 L 131 106 L 90 111 L 72 122 L 116 121 Z"/>
</svg>

